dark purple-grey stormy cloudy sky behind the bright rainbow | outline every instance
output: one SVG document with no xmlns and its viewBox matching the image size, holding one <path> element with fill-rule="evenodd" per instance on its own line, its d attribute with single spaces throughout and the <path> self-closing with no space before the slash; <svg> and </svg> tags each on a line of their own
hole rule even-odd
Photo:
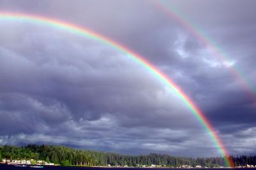
<svg viewBox="0 0 256 170">
<path fill-rule="evenodd" d="M 253 0 L 0 0 L 0 12 L 62 20 L 140 54 L 204 112 L 230 154 L 250 155 L 256 151 L 255 5 Z M 0 20 L 0 30 L 0 145 L 220 155 L 186 104 L 122 50 L 24 20 Z"/>
</svg>

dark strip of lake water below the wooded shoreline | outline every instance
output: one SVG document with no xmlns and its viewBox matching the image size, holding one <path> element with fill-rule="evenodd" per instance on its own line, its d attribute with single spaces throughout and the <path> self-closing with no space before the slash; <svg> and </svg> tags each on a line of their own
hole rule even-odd
<svg viewBox="0 0 256 170">
<path fill-rule="evenodd" d="M 6 164 L 0 164 L 0 169 L 9 169 L 9 170 L 20 170 L 20 169 L 44 169 L 44 170 L 141 170 L 141 169 L 162 169 L 162 170 L 167 170 L 167 169 L 175 169 L 175 168 L 136 168 L 136 167 L 63 167 L 63 166 L 45 166 L 44 168 L 33 168 L 33 167 L 16 167 L 16 166 L 11 166 L 11 165 L 6 165 Z M 183 168 L 179 168 L 179 170 L 182 170 Z M 224 168 L 223 168 L 224 169 Z M 240 170 L 248 170 L 248 168 L 239 168 Z M 255 170 L 256 168 L 249 168 L 249 170 Z M 177 170 L 177 169 L 176 169 Z M 185 169 L 183 169 L 185 170 Z M 188 169 L 186 169 L 188 170 Z M 193 170 L 193 169 L 191 169 Z M 199 169 L 196 169 L 199 170 Z M 201 168 L 200 170 L 206 170 L 204 168 Z M 207 168 L 207 170 L 213 170 L 212 168 Z M 216 168 L 214 169 L 216 170 Z"/>
</svg>

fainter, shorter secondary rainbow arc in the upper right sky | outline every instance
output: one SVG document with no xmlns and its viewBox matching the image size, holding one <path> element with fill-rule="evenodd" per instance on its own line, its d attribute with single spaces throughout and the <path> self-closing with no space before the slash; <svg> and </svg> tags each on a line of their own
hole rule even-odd
<svg viewBox="0 0 256 170">
<path fill-rule="evenodd" d="M 202 29 L 197 27 L 193 22 L 186 19 L 186 17 L 182 15 L 182 13 L 179 12 L 179 10 L 177 10 L 177 8 L 173 6 L 173 4 L 168 4 L 166 2 L 170 3 L 170 1 L 161 0 L 151 1 L 151 3 L 153 3 L 154 6 L 156 6 L 156 8 L 166 13 L 168 17 L 179 22 L 181 26 L 186 27 L 186 29 L 192 35 L 194 35 L 200 42 L 204 43 L 206 47 L 209 47 L 209 49 L 212 50 L 212 52 L 214 52 L 214 56 L 216 56 L 216 58 L 218 58 L 219 61 L 221 61 L 222 63 L 232 63 L 230 62 L 230 59 L 228 59 L 227 57 L 227 52 L 221 50 L 221 48 L 218 47 L 216 42 L 211 40 L 211 38 L 209 38 L 204 33 L 204 31 L 202 31 Z M 256 90 L 253 88 L 252 84 L 246 81 L 245 76 L 243 75 L 241 70 L 239 70 L 239 68 L 237 68 L 236 65 L 228 66 L 228 70 L 230 71 L 230 73 L 232 73 L 234 77 L 236 77 L 236 80 L 239 82 L 239 84 L 246 90 L 247 95 L 252 100 L 252 102 L 256 102 Z"/>
</svg>

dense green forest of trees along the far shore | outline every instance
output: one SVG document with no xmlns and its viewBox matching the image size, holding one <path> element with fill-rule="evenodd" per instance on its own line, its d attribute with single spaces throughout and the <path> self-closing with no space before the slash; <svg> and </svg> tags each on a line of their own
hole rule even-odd
<svg viewBox="0 0 256 170">
<path fill-rule="evenodd" d="M 66 146 L 52 145 L 36 145 L 29 144 L 27 146 L 0 146 L 0 158 L 8 158 L 10 160 L 35 159 L 45 160 L 62 165 L 83 165 L 83 166 L 158 166 L 180 167 L 203 166 L 203 167 L 219 167 L 225 166 L 222 157 L 211 158 L 189 158 L 189 157 L 173 157 L 167 154 L 150 153 L 149 155 L 121 155 L 117 153 L 104 153 L 100 151 L 76 150 Z M 255 166 L 255 156 L 237 156 L 231 157 L 235 166 L 246 166 L 247 164 Z"/>
</svg>

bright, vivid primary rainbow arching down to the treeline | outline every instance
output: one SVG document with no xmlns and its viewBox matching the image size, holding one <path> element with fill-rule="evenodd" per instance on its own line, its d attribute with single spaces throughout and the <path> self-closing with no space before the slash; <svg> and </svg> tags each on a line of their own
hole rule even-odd
<svg viewBox="0 0 256 170">
<path fill-rule="evenodd" d="M 124 52 L 124 54 L 131 58 L 133 61 L 136 61 L 139 63 L 143 68 L 147 69 L 148 72 L 152 73 L 154 76 L 156 76 L 157 79 L 162 81 L 166 86 L 168 86 L 172 91 L 186 104 L 186 106 L 189 108 L 193 114 L 195 114 L 196 118 L 202 126 L 205 128 L 205 130 L 208 132 L 209 136 L 211 137 L 212 141 L 218 148 L 218 151 L 220 154 L 224 157 L 225 164 L 227 166 L 232 166 L 232 160 L 228 159 L 228 153 L 225 149 L 223 143 L 221 142 L 220 137 L 216 134 L 214 128 L 212 127 L 211 123 L 205 118 L 204 114 L 200 109 L 192 102 L 192 100 L 175 84 L 170 78 L 168 78 L 164 73 L 162 73 L 160 70 L 158 70 L 154 65 L 149 63 L 145 58 L 137 54 L 136 52 L 133 52 L 131 49 L 128 49 L 127 47 L 124 47 L 120 43 L 114 42 L 110 38 L 99 35 L 98 33 L 95 33 L 93 31 L 90 31 L 89 29 L 85 29 L 83 27 L 75 26 L 73 24 L 63 22 L 60 20 L 54 20 L 49 19 L 46 17 L 40 17 L 35 15 L 24 15 L 21 13 L 1 13 L 0 12 L 0 21 L 1 20 L 11 20 L 11 21 L 26 21 L 26 22 L 32 22 L 33 24 L 41 24 L 44 26 L 51 26 L 56 27 L 61 30 L 69 31 L 71 33 L 75 33 L 79 36 L 86 36 L 87 38 L 91 38 L 92 40 L 100 41 L 103 43 L 106 43 L 106 45 L 109 45 L 113 49 L 120 50 Z"/>
</svg>

